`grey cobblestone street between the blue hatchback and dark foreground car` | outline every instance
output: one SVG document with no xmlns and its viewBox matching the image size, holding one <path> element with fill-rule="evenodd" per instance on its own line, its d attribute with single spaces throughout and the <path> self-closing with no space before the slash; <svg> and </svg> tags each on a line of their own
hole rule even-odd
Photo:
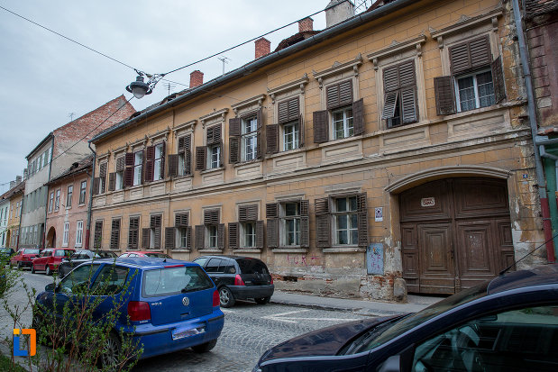
<svg viewBox="0 0 558 372">
<path fill-rule="evenodd" d="M 23 281 L 42 290 L 52 282 L 43 274 L 23 273 Z M 21 286 L 21 285 L 20 285 Z M 10 304 L 25 304 L 20 290 L 9 299 Z M 261 354 L 277 343 L 292 337 L 339 322 L 362 319 L 364 316 L 341 311 L 305 309 L 280 304 L 258 305 L 238 302 L 224 309 L 224 330 L 215 349 L 196 354 L 190 349 L 141 360 L 134 371 L 251 371 Z M 7 327 L 0 331 L 1 338 L 11 337 L 9 315 L 0 309 L 0 322 Z M 31 324 L 31 312 L 24 313 L 23 323 Z"/>
</svg>

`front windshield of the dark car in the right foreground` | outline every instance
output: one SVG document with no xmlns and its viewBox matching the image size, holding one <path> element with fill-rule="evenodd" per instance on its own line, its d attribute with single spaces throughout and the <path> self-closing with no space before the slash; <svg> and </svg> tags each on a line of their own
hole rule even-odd
<svg viewBox="0 0 558 372">
<path fill-rule="evenodd" d="M 418 324 L 428 321 L 435 316 L 444 313 L 445 311 L 468 303 L 477 298 L 487 295 L 487 286 L 489 282 L 480 286 L 474 286 L 470 289 L 463 290 L 462 292 L 452 295 L 439 303 L 433 304 L 418 313 L 407 315 L 398 322 L 394 321 L 388 323 L 381 323 L 378 327 L 371 329 L 364 333 L 360 338 L 354 340 L 345 350 L 347 354 L 355 354 L 365 350 L 374 349 L 389 340 L 392 340 L 399 335 L 405 333 L 416 327 Z M 387 326 L 388 325 L 388 326 Z"/>
</svg>

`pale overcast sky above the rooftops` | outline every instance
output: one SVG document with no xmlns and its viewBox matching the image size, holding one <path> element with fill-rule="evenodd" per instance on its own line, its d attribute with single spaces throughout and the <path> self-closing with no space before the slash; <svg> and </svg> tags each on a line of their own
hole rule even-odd
<svg viewBox="0 0 558 372">
<path fill-rule="evenodd" d="M 166 73 L 321 11 L 329 0 L 0 0 L 0 6 L 148 73 Z M 357 0 L 360 5 L 363 0 Z M 370 0 L 367 1 L 370 5 Z M 360 13 L 364 6 L 357 11 Z M 325 14 L 313 16 L 325 28 Z M 297 24 L 266 36 L 274 50 Z M 95 110 L 125 90 L 133 69 L 107 59 L 0 8 L 0 193 L 27 166 L 25 156 L 50 131 Z M 225 71 L 254 58 L 253 41 L 224 53 Z M 195 69 L 204 81 L 223 72 L 217 57 L 166 78 L 170 93 L 188 86 Z M 136 110 L 169 93 L 160 81 Z"/>
</svg>

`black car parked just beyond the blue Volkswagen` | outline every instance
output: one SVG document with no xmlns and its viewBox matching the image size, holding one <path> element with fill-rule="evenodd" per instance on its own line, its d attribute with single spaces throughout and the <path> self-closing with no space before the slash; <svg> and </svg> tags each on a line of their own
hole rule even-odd
<svg viewBox="0 0 558 372">
<path fill-rule="evenodd" d="M 273 295 L 273 278 L 261 259 L 238 256 L 202 256 L 194 259 L 206 270 L 219 289 L 221 306 L 231 307 L 236 300 L 253 298 L 267 304 Z"/>
</svg>

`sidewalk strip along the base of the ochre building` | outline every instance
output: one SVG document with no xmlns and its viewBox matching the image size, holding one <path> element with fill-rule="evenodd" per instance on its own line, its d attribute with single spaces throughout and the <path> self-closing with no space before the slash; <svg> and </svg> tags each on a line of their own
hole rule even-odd
<svg viewBox="0 0 558 372">
<path fill-rule="evenodd" d="M 271 304 L 288 304 L 291 306 L 310 307 L 324 310 L 343 310 L 361 315 L 383 316 L 400 313 L 415 313 L 431 304 L 443 300 L 444 297 L 424 295 L 407 295 L 407 304 L 388 303 L 370 300 L 320 297 L 317 295 L 295 295 L 288 292 L 275 291 Z"/>
</svg>

